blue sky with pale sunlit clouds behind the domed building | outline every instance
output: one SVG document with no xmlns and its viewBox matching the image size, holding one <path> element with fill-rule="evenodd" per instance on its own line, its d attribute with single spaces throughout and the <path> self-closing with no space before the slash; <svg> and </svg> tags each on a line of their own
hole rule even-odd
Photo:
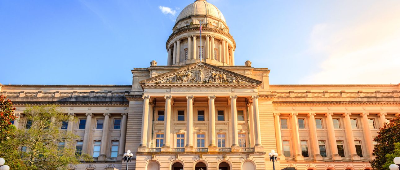
<svg viewBox="0 0 400 170">
<path fill-rule="evenodd" d="M 131 69 L 166 64 L 192 2 L 0 0 L 0 83 L 131 84 Z M 236 65 L 268 67 L 271 84 L 400 83 L 398 0 L 208 2 L 227 20 Z"/>
</svg>

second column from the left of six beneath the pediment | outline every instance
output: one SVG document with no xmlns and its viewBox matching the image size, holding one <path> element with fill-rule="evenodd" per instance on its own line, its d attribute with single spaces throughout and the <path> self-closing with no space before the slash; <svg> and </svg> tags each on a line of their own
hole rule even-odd
<svg viewBox="0 0 400 170">
<path fill-rule="evenodd" d="M 162 152 L 170 151 L 170 129 L 171 129 L 171 96 L 164 96 L 165 98 L 165 117 L 164 117 L 164 144 Z"/>
</svg>

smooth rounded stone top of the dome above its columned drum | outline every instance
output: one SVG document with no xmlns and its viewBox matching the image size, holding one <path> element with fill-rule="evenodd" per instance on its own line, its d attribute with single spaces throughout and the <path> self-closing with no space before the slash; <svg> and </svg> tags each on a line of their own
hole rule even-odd
<svg viewBox="0 0 400 170">
<path fill-rule="evenodd" d="M 176 18 L 176 22 L 187 17 L 195 15 L 208 15 L 215 18 L 219 18 L 222 22 L 226 24 L 225 17 L 222 15 L 221 11 L 218 10 L 216 6 L 208 3 L 206 0 L 196 0 L 194 3 L 189 4 L 179 13 Z"/>
</svg>

